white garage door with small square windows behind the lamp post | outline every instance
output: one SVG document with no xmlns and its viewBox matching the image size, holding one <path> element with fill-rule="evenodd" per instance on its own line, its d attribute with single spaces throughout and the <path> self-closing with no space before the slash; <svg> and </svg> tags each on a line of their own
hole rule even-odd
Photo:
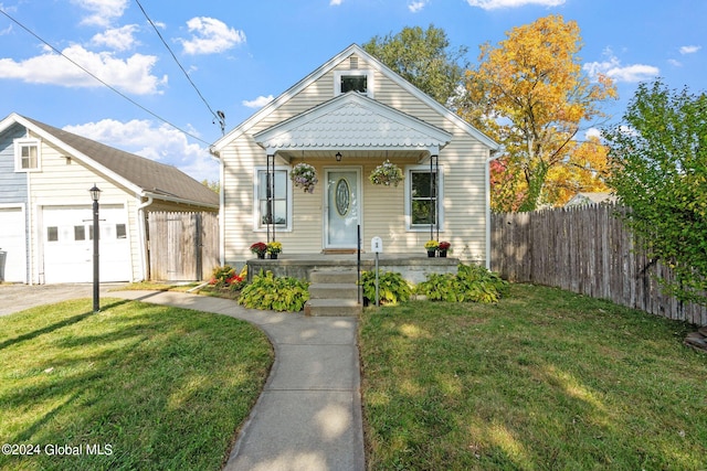
<svg viewBox="0 0 707 471">
<path fill-rule="evenodd" d="M 130 239 L 122 205 L 99 207 L 101 282 L 129 281 Z M 42 212 L 44 282 L 93 281 L 93 211 L 91 206 L 51 206 Z"/>
</svg>

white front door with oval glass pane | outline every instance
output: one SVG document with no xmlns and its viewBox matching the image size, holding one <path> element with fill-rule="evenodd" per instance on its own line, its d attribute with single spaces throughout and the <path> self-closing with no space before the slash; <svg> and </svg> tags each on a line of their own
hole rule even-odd
<svg viewBox="0 0 707 471">
<path fill-rule="evenodd" d="M 357 248 L 361 223 L 361 171 L 327 170 L 325 248 Z"/>
</svg>

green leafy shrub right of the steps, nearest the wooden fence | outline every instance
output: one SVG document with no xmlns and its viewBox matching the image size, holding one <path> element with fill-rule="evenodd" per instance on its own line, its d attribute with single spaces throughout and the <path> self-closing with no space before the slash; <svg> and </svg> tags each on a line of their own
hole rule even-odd
<svg viewBox="0 0 707 471">
<path fill-rule="evenodd" d="M 457 270 L 456 275 L 429 275 L 418 292 L 431 301 L 498 302 L 508 288 L 507 281 L 479 265 L 460 264 Z"/>
</svg>

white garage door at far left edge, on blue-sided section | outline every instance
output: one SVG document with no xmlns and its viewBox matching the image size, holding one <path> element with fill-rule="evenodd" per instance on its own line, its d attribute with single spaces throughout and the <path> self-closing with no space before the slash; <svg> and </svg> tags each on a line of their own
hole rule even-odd
<svg viewBox="0 0 707 471">
<path fill-rule="evenodd" d="M 6 253 L 3 281 L 27 282 L 27 237 L 21 207 L 0 207 L 0 250 Z"/>
</svg>

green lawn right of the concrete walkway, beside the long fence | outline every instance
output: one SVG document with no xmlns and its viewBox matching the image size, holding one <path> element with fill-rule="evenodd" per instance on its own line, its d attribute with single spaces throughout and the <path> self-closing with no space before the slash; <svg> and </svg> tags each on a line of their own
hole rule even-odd
<svg viewBox="0 0 707 471">
<path fill-rule="evenodd" d="M 682 323 L 552 288 L 360 324 L 371 470 L 707 469 L 707 355 Z"/>
</svg>

